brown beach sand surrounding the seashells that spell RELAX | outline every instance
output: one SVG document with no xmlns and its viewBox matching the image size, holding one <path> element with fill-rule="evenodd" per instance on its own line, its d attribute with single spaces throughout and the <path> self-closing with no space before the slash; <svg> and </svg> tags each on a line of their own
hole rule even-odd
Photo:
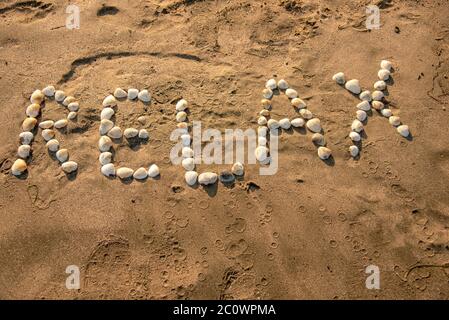
<svg viewBox="0 0 449 320">
<path fill-rule="evenodd" d="M 449 6 L 374 1 L 66 1 L 0 4 L 0 298 L 2 299 L 448 299 Z M 348 139 L 359 100 L 332 81 L 343 71 L 372 90 L 394 64 L 392 110 L 413 139 L 377 113 L 359 160 Z M 190 188 L 168 158 L 175 104 L 203 127 L 256 128 L 261 90 L 286 79 L 321 119 L 333 163 L 310 134 L 282 133 L 279 171 L 246 166 L 234 187 Z M 35 89 L 54 84 L 80 102 L 57 133 L 67 178 L 33 144 L 26 179 L 11 175 Z M 153 103 L 123 102 L 122 128 L 148 115 L 148 144 L 117 147 L 115 162 L 156 163 L 159 180 L 122 183 L 98 164 L 101 102 L 116 87 L 148 88 Z M 294 116 L 285 96 L 276 119 Z M 67 112 L 46 105 L 43 117 Z M 199 165 L 199 171 L 230 170 Z M 81 288 L 65 287 L 79 266 Z M 380 290 L 365 269 L 380 269 Z"/>
</svg>

